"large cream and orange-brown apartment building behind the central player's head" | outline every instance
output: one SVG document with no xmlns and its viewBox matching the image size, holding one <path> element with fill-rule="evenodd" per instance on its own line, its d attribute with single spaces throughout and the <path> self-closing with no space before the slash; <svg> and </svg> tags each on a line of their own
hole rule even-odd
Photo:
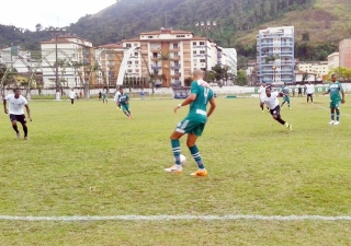
<svg viewBox="0 0 351 246">
<path fill-rule="evenodd" d="M 213 40 L 188 31 L 161 28 L 140 33 L 122 44 L 123 48 L 135 48 L 139 54 L 135 52 L 129 58 L 126 75 L 148 78 L 151 73 L 162 86 L 184 85 L 184 80 L 192 77 L 194 69 L 208 71 L 223 63 L 222 50 Z"/>
</svg>

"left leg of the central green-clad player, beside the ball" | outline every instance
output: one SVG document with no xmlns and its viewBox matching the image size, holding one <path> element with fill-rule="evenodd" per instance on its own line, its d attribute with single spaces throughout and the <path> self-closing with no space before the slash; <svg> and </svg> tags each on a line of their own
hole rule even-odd
<svg viewBox="0 0 351 246">
<path fill-rule="evenodd" d="M 181 154 L 181 148 L 180 148 L 180 141 L 179 139 L 185 134 L 185 128 L 188 126 L 189 120 L 184 119 L 180 121 L 177 125 L 176 130 L 170 136 L 171 140 L 171 147 L 172 147 L 172 153 L 174 156 L 174 164 L 171 165 L 168 168 L 165 168 L 165 172 L 167 173 L 181 173 L 183 171 L 183 167 L 180 163 L 180 154 Z"/>
</svg>

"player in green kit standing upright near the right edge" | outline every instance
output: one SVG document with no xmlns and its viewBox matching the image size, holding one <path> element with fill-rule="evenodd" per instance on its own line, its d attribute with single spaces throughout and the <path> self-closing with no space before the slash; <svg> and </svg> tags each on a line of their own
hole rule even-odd
<svg viewBox="0 0 351 246">
<path fill-rule="evenodd" d="M 337 81 L 336 74 L 331 75 L 331 82 L 329 84 L 328 91 L 324 93 L 324 95 L 330 93 L 330 113 L 331 113 L 331 121 L 330 125 L 339 125 L 340 124 L 340 102 L 344 104 L 344 93 L 342 85 L 339 81 Z M 342 98 L 340 98 L 340 92 Z M 337 120 L 335 120 L 335 112 L 337 112 Z"/>
</svg>

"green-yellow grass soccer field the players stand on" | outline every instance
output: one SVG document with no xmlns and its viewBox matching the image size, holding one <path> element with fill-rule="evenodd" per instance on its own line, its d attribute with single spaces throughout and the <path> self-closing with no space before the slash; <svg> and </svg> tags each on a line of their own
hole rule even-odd
<svg viewBox="0 0 351 246">
<path fill-rule="evenodd" d="M 30 141 L 2 114 L 0 245 L 350 245 L 350 98 L 339 126 L 328 97 L 291 101 L 287 132 L 258 98 L 218 98 L 197 141 L 208 177 L 190 176 L 185 138 L 183 173 L 163 172 L 180 101 L 131 101 L 132 120 L 112 101 L 32 101 Z"/>
</svg>

